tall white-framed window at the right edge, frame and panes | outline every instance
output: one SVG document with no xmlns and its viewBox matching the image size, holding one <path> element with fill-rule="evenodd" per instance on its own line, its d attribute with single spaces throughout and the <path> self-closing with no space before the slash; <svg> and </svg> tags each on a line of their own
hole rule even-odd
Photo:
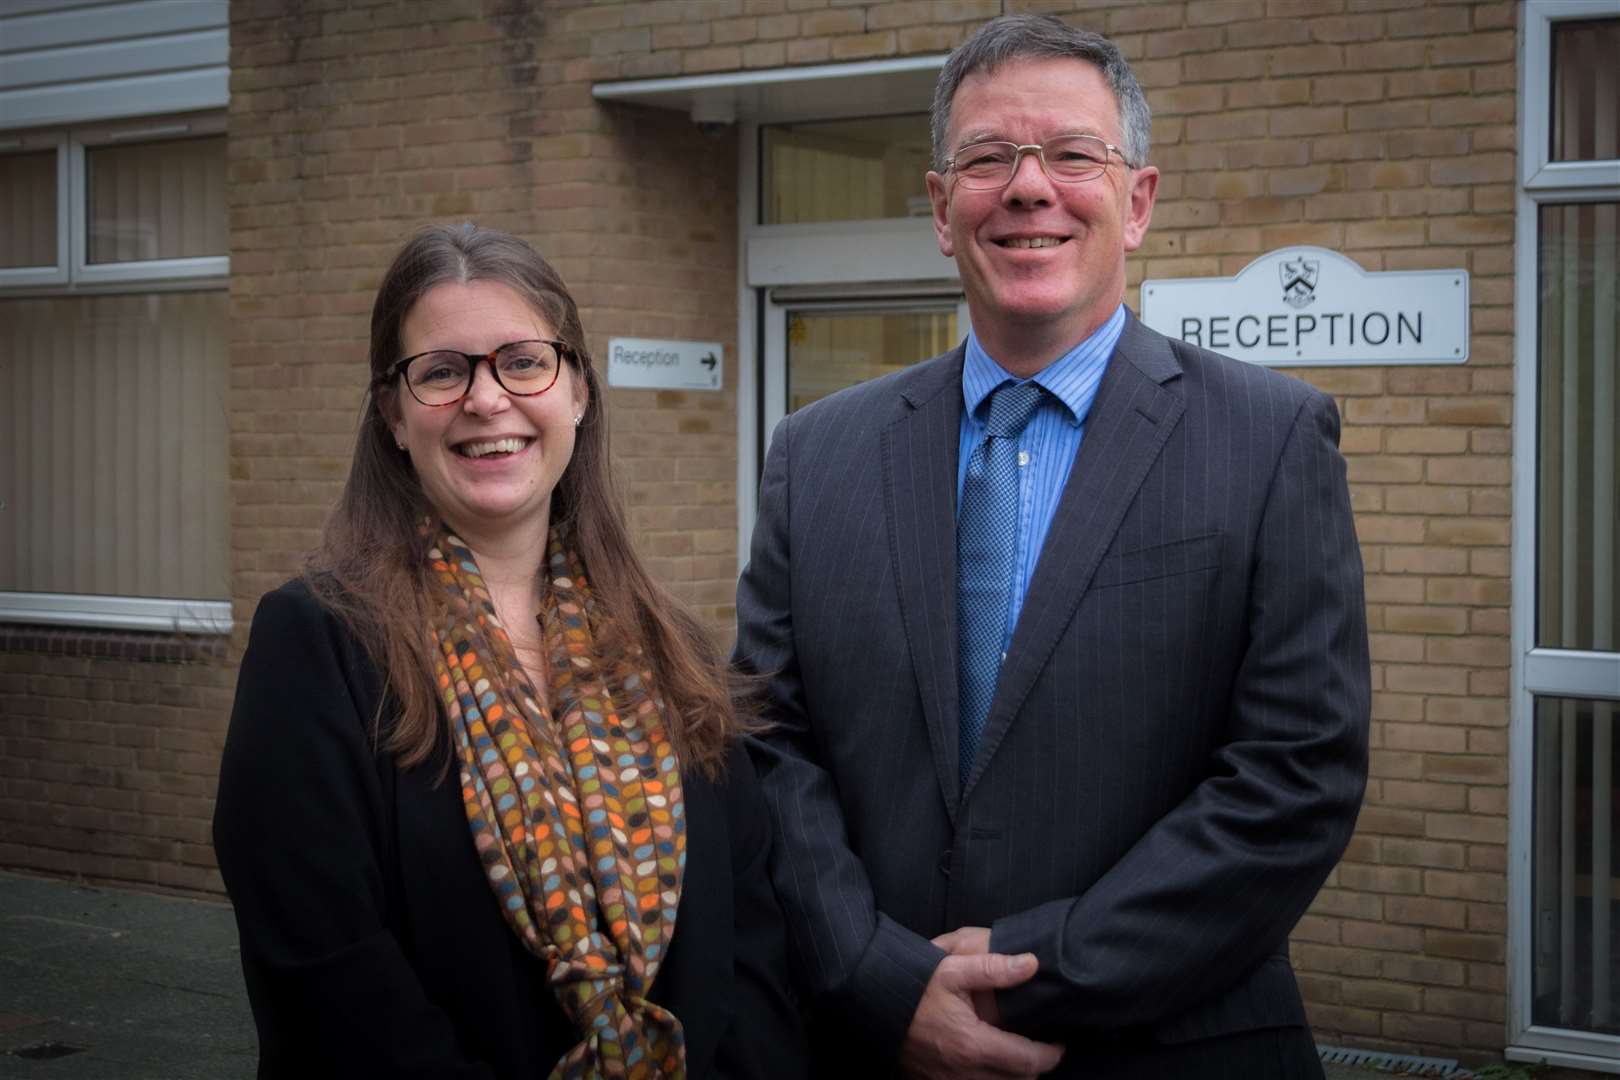
<svg viewBox="0 0 1620 1080">
<path fill-rule="evenodd" d="M 1524 8 L 1508 1049 L 1610 1072 L 1620 1070 L 1617 50 L 1615 0 Z"/>
</svg>

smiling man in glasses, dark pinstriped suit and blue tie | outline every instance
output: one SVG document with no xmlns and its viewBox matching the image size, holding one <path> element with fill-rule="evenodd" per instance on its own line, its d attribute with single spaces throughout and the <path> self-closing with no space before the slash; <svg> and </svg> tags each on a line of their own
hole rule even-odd
<svg viewBox="0 0 1620 1080">
<path fill-rule="evenodd" d="M 1369 662 L 1338 415 L 1123 306 L 1118 49 L 1003 16 L 928 173 L 966 345 L 781 423 L 737 593 L 825 1075 L 1307 1077 Z"/>
</svg>

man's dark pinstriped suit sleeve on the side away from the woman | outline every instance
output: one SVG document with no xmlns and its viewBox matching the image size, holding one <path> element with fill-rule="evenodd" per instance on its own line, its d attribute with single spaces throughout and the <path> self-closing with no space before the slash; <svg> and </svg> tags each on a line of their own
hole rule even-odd
<svg viewBox="0 0 1620 1080">
<path fill-rule="evenodd" d="M 1338 413 L 1311 392 L 1265 494 L 1247 648 L 1207 779 L 1085 894 L 991 928 L 1040 972 L 998 993 L 1004 1027 L 1152 1025 L 1230 988 L 1286 941 L 1356 824 L 1371 674 Z"/>
</svg>

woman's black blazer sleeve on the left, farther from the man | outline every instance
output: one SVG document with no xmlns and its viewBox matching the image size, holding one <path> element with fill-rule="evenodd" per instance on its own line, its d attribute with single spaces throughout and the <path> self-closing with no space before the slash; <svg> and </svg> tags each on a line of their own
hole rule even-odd
<svg viewBox="0 0 1620 1080">
<path fill-rule="evenodd" d="M 387 928 L 384 797 L 361 716 L 376 688 L 350 682 L 352 654 L 313 597 L 284 588 L 259 604 L 237 682 L 214 850 L 261 1057 L 287 1074 L 484 1080 Z"/>
</svg>

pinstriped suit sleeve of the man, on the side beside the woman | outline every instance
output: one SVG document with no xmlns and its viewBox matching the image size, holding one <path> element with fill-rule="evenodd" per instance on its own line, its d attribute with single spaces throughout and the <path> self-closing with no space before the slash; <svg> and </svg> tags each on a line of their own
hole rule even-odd
<svg viewBox="0 0 1620 1080">
<path fill-rule="evenodd" d="M 748 565 L 737 586 L 737 651 L 766 677 L 773 729 L 750 740 L 771 810 L 771 874 L 797 975 L 812 1002 L 847 1020 L 878 1065 L 899 1059 L 906 1030 L 944 952 L 876 910 L 849 847 L 833 777 L 818 763 L 792 615 L 792 421 L 778 424 L 765 460 Z"/>
</svg>

